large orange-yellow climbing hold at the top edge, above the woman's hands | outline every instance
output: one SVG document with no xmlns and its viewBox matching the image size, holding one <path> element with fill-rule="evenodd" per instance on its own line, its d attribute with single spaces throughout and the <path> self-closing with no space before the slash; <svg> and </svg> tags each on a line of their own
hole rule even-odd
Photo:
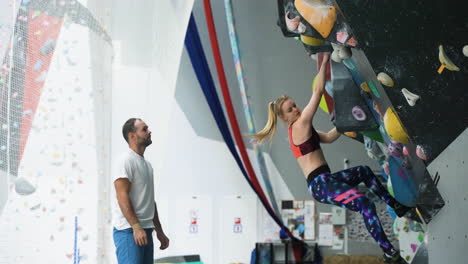
<svg viewBox="0 0 468 264">
<path fill-rule="evenodd" d="M 327 38 L 336 21 L 336 7 L 316 0 L 294 1 L 297 11 L 322 37 Z"/>
</svg>

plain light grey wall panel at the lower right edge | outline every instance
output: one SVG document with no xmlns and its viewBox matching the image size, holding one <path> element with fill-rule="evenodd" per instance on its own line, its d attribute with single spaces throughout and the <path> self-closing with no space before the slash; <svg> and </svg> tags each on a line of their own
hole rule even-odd
<svg viewBox="0 0 468 264">
<path fill-rule="evenodd" d="M 467 263 L 468 129 L 428 167 L 440 175 L 438 189 L 445 206 L 428 226 L 429 264 Z"/>
</svg>

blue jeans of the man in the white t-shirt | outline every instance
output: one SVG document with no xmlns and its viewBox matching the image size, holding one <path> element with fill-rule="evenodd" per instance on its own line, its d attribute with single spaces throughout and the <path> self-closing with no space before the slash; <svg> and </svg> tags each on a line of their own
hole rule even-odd
<svg viewBox="0 0 468 264">
<path fill-rule="evenodd" d="M 138 246 L 133 238 L 133 229 L 114 228 L 114 244 L 119 264 L 153 264 L 153 229 L 145 229 L 148 238 L 146 246 Z"/>
</svg>

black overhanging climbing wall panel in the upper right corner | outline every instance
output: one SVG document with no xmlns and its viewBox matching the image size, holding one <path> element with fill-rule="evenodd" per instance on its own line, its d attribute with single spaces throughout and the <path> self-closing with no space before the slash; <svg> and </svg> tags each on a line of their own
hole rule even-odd
<svg viewBox="0 0 468 264">
<path fill-rule="evenodd" d="M 376 73 L 395 86 L 385 88 L 411 140 L 424 148 L 427 163 L 437 157 L 468 123 L 466 12 L 455 0 L 336 1 Z M 439 46 L 459 71 L 443 70 Z M 420 96 L 410 106 L 401 90 Z"/>
</svg>

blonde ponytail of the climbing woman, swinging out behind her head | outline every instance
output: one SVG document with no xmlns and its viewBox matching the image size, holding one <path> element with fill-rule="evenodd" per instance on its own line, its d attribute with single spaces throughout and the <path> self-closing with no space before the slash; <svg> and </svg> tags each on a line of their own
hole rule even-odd
<svg viewBox="0 0 468 264">
<path fill-rule="evenodd" d="M 276 99 L 275 102 L 270 102 L 268 104 L 268 121 L 265 127 L 255 134 L 250 134 L 249 136 L 254 137 L 257 143 L 263 143 L 266 140 L 271 140 L 276 133 L 276 127 L 278 125 L 278 115 L 281 114 L 281 105 L 289 97 L 286 95 L 281 96 Z"/>
</svg>

